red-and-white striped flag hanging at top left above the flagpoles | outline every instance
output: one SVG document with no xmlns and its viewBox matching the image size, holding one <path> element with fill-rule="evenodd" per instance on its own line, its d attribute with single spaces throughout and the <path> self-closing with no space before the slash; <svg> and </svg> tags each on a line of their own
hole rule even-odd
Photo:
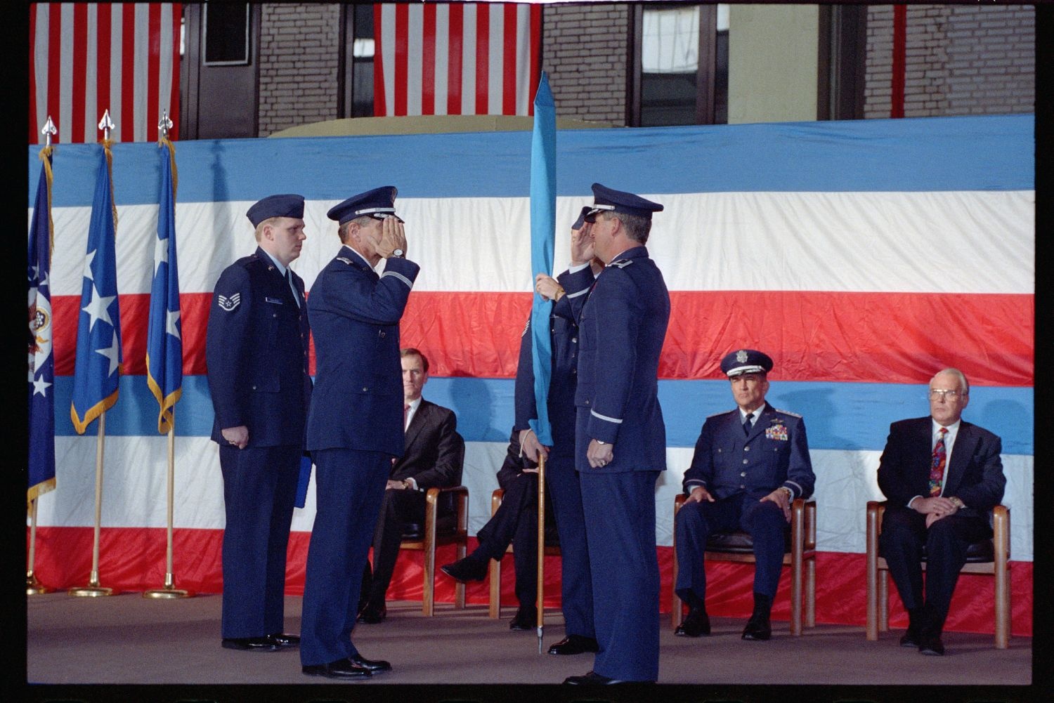
<svg viewBox="0 0 1054 703">
<path fill-rule="evenodd" d="M 103 111 L 114 141 L 157 139 L 161 112 L 179 114 L 182 5 L 35 3 L 30 7 L 30 143 L 51 115 L 56 141 L 95 142 Z M 176 137 L 176 130 L 169 133 Z"/>
</svg>

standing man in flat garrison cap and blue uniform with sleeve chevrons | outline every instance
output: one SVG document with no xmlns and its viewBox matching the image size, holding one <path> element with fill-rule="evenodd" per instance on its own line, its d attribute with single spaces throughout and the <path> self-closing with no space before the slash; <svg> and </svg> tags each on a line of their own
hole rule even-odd
<svg viewBox="0 0 1054 703">
<path fill-rule="evenodd" d="M 223 474 L 222 646 L 273 651 L 282 633 L 286 547 L 311 398 L 304 197 L 272 195 L 246 213 L 256 251 L 220 274 L 206 334 L 212 438 Z"/>
</svg>

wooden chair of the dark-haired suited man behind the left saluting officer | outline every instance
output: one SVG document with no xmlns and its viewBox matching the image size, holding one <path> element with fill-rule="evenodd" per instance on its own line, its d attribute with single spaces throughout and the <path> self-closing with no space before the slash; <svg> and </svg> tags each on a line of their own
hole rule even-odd
<svg viewBox="0 0 1054 703">
<path fill-rule="evenodd" d="M 465 458 L 465 441 L 461 435 L 461 466 Z M 461 481 L 458 471 L 457 481 Z M 450 512 L 441 514 L 440 506 L 446 504 Z M 422 598 L 422 612 L 433 614 L 435 603 L 435 547 L 457 545 L 457 559 L 464 559 L 468 551 L 468 488 L 451 486 L 429 488 L 425 493 L 424 524 L 407 523 L 403 527 L 403 549 L 417 549 L 425 552 L 425 588 Z M 465 607 L 465 584 L 454 588 L 454 606 Z"/>
</svg>

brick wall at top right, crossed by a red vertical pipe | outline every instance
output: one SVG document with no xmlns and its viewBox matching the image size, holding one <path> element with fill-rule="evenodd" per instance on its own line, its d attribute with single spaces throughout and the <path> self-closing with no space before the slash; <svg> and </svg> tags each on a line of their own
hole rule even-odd
<svg viewBox="0 0 1054 703">
<path fill-rule="evenodd" d="M 1035 109 L 1035 11 L 1029 5 L 909 5 L 904 117 Z M 889 117 L 893 6 L 867 9 L 864 117 Z"/>
</svg>

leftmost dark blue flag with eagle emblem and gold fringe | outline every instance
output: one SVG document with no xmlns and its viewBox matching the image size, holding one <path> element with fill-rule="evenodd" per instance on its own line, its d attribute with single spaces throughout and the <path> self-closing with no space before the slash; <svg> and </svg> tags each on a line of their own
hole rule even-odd
<svg viewBox="0 0 1054 703">
<path fill-rule="evenodd" d="M 30 222 L 30 481 L 26 503 L 55 488 L 55 356 L 52 354 L 52 148 L 40 151 Z"/>
</svg>

